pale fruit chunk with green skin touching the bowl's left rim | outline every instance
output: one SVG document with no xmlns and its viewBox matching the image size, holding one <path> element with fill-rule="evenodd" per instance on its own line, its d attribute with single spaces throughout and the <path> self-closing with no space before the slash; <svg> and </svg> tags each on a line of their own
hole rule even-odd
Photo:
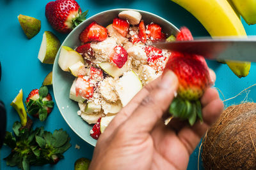
<svg viewBox="0 0 256 170">
<path fill-rule="evenodd" d="M 68 67 L 79 61 L 84 64 L 84 59 L 80 53 L 77 53 L 68 46 L 61 46 L 58 64 L 63 71 L 69 71 Z"/>
</svg>

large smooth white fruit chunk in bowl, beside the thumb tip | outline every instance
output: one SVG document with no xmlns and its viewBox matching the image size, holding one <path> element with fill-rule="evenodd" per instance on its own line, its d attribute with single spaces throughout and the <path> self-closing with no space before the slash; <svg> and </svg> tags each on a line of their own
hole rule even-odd
<svg viewBox="0 0 256 170">
<path fill-rule="evenodd" d="M 128 71 L 116 82 L 115 89 L 124 107 L 142 89 L 142 84 L 134 71 Z"/>
</svg>

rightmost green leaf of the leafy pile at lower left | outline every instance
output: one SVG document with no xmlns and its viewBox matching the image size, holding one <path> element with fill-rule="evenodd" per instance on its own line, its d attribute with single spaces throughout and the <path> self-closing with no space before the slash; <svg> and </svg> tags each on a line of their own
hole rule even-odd
<svg viewBox="0 0 256 170">
<path fill-rule="evenodd" d="M 55 130 L 52 134 L 52 137 L 54 138 L 52 146 L 58 148 L 67 142 L 68 134 L 66 131 L 63 131 L 63 129 L 60 129 Z"/>
</svg>

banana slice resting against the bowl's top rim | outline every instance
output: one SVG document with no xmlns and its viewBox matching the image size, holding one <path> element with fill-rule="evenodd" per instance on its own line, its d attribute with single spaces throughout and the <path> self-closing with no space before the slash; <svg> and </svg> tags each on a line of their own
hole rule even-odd
<svg viewBox="0 0 256 170">
<path fill-rule="evenodd" d="M 141 20 L 141 14 L 137 11 L 127 10 L 122 11 L 118 14 L 119 18 L 122 18 L 124 20 L 128 20 L 128 22 L 132 25 L 140 24 Z"/>
</svg>

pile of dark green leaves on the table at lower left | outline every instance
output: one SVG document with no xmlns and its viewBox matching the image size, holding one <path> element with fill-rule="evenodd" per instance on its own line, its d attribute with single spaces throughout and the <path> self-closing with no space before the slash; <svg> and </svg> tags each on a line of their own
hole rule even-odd
<svg viewBox="0 0 256 170">
<path fill-rule="evenodd" d="M 13 132 L 6 132 L 4 145 L 12 152 L 4 158 L 8 166 L 17 166 L 27 170 L 29 166 L 56 164 L 63 153 L 70 148 L 70 138 L 63 129 L 53 133 L 44 131 L 44 127 L 35 130 L 22 128 L 20 122 L 13 124 Z"/>
</svg>

